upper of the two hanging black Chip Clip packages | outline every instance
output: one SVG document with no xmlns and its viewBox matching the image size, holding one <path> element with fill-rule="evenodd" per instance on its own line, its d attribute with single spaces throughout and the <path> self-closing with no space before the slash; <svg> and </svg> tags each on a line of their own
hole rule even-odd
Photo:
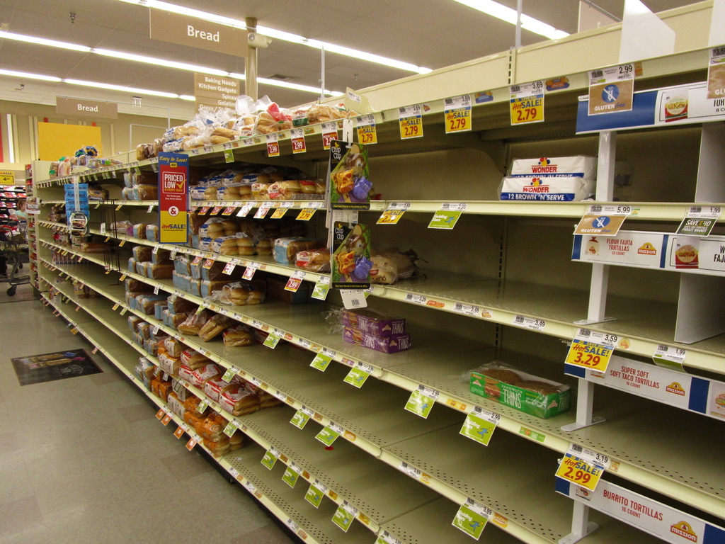
<svg viewBox="0 0 725 544">
<path fill-rule="evenodd" d="M 330 144 L 330 205 L 333 210 L 370 210 L 368 147 L 349 141 Z"/>
</svg>

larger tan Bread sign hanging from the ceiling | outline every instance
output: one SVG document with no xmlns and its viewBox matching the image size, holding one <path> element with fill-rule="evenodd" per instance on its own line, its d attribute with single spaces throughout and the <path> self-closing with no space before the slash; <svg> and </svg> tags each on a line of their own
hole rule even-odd
<svg viewBox="0 0 725 544">
<path fill-rule="evenodd" d="M 244 57 L 247 30 L 204 21 L 188 15 L 149 9 L 149 28 L 154 40 L 170 41 L 198 49 Z"/>
</svg>

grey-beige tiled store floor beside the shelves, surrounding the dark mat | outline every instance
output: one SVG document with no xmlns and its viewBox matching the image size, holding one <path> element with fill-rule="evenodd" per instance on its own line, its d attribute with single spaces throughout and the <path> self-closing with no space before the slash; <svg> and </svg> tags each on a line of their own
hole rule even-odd
<svg viewBox="0 0 725 544">
<path fill-rule="evenodd" d="M 102 374 L 20 387 L 13 357 L 92 346 L 40 302 L 0 305 L 0 542 L 289 544 L 241 487 Z"/>
</svg>

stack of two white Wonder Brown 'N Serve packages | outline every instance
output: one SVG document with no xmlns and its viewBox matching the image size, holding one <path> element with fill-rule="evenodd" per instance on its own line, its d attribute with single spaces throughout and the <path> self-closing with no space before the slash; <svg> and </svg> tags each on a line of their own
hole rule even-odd
<svg viewBox="0 0 725 544">
<path fill-rule="evenodd" d="M 571 202 L 591 197 L 597 184 L 596 157 L 515 159 L 503 178 L 501 200 Z"/>
</svg>

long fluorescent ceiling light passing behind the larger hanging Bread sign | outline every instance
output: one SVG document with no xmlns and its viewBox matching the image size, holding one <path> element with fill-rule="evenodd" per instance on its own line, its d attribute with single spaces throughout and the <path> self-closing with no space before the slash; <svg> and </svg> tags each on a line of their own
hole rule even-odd
<svg viewBox="0 0 725 544">
<path fill-rule="evenodd" d="M 138 6 L 145 6 L 151 9 L 164 9 L 168 12 L 181 13 L 190 17 L 196 17 L 197 19 L 203 19 L 212 22 L 219 22 L 222 25 L 229 25 L 235 28 L 247 28 L 246 22 L 238 19 L 231 19 L 231 17 L 224 17 L 223 15 L 215 15 L 214 13 L 202 12 L 199 9 L 191 9 L 188 7 L 178 6 L 176 4 L 170 4 L 168 2 L 160 0 L 120 0 L 127 4 L 136 4 Z M 500 4 L 499 4 L 500 5 Z M 515 12 L 514 12 L 515 13 Z M 514 22 L 515 24 L 515 22 Z M 315 49 L 325 49 L 332 53 L 338 53 L 347 57 L 353 57 L 355 59 L 367 60 L 368 62 L 375 62 L 379 65 L 389 66 L 393 68 L 399 68 L 400 70 L 407 70 L 409 72 L 415 72 L 419 74 L 427 74 L 431 72 L 430 68 L 416 66 L 410 64 L 410 62 L 403 62 L 402 60 L 389 59 L 388 57 L 381 57 L 380 55 L 366 53 L 365 51 L 359 51 L 345 46 L 339 46 L 336 44 L 328 44 L 326 41 L 312 40 L 305 38 L 305 36 L 299 36 L 297 34 L 285 32 L 283 30 L 275 30 L 274 28 L 268 28 L 265 26 L 257 26 L 257 32 L 275 38 L 277 40 L 289 41 L 293 44 L 305 45 L 313 47 Z"/>
</svg>

